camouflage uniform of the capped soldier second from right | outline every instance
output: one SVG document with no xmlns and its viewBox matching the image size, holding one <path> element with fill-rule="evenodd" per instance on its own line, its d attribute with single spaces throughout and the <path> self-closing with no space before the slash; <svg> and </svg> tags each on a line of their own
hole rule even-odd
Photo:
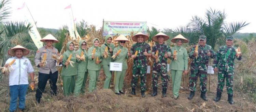
<svg viewBox="0 0 256 112">
<path fill-rule="evenodd" d="M 206 37 L 205 37 L 206 38 Z M 210 45 L 205 44 L 205 46 L 198 45 L 198 56 L 197 59 L 194 57 L 193 53 L 196 46 L 191 49 L 189 53 L 189 58 L 194 59 L 191 64 L 191 74 L 189 77 L 189 90 L 196 91 L 197 77 L 200 77 L 200 90 L 201 92 L 207 92 L 207 68 L 209 57 L 207 56 L 208 50 L 211 52 L 211 58 L 216 57 L 216 53 L 213 51 Z"/>
</svg>

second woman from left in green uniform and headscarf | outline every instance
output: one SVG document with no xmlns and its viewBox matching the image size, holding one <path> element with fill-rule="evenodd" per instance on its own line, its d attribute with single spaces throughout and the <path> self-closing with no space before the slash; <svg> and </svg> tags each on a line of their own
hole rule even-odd
<svg viewBox="0 0 256 112">
<path fill-rule="evenodd" d="M 83 53 L 83 57 L 81 57 L 82 53 Z M 87 79 L 88 59 L 87 59 L 87 51 L 86 51 L 86 42 L 84 40 L 81 40 L 79 42 L 79 49 L 76 51 L 76 55 L 79 55 L 81 57 L 80 59 L 77 59 L 77 76 L 76 76 L 75 89 L 74 89 L 75 96 L 78 96 L 81 92 L 81 89 L 83 89 L 82 92 L 84 92 L 84 83 L 86 82 L 86 79 Z"/>
</svg>

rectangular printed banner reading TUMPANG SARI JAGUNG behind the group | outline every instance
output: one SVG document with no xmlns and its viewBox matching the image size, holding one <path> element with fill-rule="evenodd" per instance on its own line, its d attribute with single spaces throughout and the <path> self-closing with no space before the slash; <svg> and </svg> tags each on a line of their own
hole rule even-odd
<svg viewBox="0 0 256 112">
<path fill-rule="evenodd" d="M 117 33 L 127 36 L 131 35 L 132 31 L 134 34 L 147 34 L 147 22 L 103 21 L 103 36 L 113 36 Z"/>
</svg>

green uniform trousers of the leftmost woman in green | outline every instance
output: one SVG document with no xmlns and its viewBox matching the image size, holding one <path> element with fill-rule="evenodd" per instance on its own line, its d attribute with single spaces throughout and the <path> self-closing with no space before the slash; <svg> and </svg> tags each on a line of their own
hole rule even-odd
<svg viewBox="0 0 256 112">
<path fill-rule="evenodd" d="M 61 76 L 63 81 L 63 92 L 65 96 L 69 96 L 74 92 L 75 76 Z"/>
</svg>

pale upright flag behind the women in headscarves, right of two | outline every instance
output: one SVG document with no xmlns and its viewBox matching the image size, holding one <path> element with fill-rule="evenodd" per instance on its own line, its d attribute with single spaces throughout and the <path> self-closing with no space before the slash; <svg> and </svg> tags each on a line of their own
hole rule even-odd
<svg viewBox="0 0 256 112">
<path fill-rule="evenodd" d="M 68 13 L 68 28 L 69 28 L 70 37 L 73 39 L 75 39 L 75 36 L 76 36 L 76 38 L 80 38 L 80 36 L 76 30 L 76 26 L 75 26 L 75 22 L 74 22 L 74 18 L 73 18 L 73 12 L 71 9 L 71 4 L 64 9 Z"/>
</svg>

